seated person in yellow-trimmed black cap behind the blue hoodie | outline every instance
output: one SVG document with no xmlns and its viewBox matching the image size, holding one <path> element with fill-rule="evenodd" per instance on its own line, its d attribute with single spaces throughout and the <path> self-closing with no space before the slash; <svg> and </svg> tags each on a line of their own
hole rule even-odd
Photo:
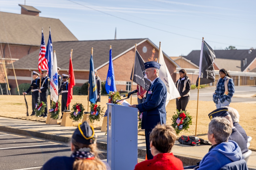
<svg viewBox="0 0 256 170">
<path fill-rule="evenodd" d="M 208 116 L 210 119 L 216 116 L 220 116 L 230 121 L 232 133 L 229 136 L 228 140 L 233 140 L 237 142 L 238 146 L 241 148 L 242 153 L 245 153 L 248 151 L 247 142 L 244 140 L 243 136 L 238 132 L 237 128 L 233 126 L 232 118 L 227 111 L 228 111 L 228 108 L 222 107 L 212 111 L 211 113 L 208 114 Z"/>
</svg>

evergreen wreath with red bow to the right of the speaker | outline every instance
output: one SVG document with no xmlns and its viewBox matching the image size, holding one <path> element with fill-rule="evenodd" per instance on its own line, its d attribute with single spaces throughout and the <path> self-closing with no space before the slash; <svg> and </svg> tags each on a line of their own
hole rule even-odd
<svg viewBox="0 0 256 170">
<path fill-rule="evenodd" d="M 177 113 L 172 117 L 172 126 L 178 135 L 182 130 L 187 131 L 189 129 L 189 125 L 192 125 L 192 116 L 190 116 L 186 110 L 178 111 L 178 109 L 176 109 L 176 111 Z M 179 128 L 180 126 L 182 126 L 182 128 Z"/>
</svg>

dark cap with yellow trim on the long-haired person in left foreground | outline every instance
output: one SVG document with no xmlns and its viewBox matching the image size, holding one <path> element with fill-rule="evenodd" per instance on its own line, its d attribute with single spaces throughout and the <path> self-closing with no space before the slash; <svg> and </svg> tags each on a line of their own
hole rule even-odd
<svg viewBox="0 0 256 170">
<path fill-rule="evenodd" d="M 75 130 L 72 138 L 79 143 L 90 145 L 94 143 L 96 135 L 94 133 L 94 128 L 84 121 L 83 123 L 78 124 L 78 128 Z"/>
</svg>

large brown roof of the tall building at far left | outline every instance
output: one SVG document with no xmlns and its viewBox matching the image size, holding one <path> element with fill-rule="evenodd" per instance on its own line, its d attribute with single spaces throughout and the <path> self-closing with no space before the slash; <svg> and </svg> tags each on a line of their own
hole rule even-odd
<svg viewBox="0 0 256 170">
<path fill-rule="evenodd" d="M 2 43 L 40 46 L 41 30 L 44 28 L 44 38 L 47 43 L 49 26 L 53 42 L 78 41 L 59 19 L 0 12 Z"/>
</svg>

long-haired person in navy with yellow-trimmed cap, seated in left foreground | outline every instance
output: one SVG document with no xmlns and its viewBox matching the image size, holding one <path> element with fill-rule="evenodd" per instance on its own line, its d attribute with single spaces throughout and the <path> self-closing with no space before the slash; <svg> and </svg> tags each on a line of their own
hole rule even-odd
<svg viewBox="0 0 256 170">
<path fill-rule="evenodd" d="M 85 121 L 78 125 L 70 143 L 72 154 L 56 156 L 47 161 L 41 170 L 107 170 L 110 169 L 106 162 L 97 156 L 96 135 L 92 126 Z"/>
</svg>

